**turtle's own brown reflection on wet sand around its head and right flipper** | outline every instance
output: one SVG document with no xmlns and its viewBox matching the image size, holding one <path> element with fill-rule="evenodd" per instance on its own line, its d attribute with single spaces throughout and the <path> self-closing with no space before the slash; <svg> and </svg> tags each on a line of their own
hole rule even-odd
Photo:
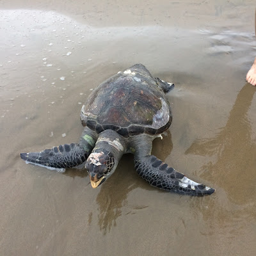
<svg viewBox="0 0 256 256">
<path fill-rule="evenodd" d="M 166 132 L 163 140 L 155 140 L 152 154 L 165 159 L 172 151 L 172 136 Z M 99 205 L 98 223 L 100 230 L 106 234 L 116 226 L 116 219 L 124 214 L 132 213 L 131 206 L 127 205 L 127 195 L 136 188 L 153 190 L 145 180 L 141 179 L 134 170 L 133 156 L 123 156 L 115 173 L 102 184 L 96 202 Z M 122 167 L 121 167 L 122 166 Z M 166 192 L 168 193 L 168 192 Z M 136 205 L 134 209 L 145 208 L 148 205 Z M 91 212 L 92 214 L 92 212 Z"/>
</svg>

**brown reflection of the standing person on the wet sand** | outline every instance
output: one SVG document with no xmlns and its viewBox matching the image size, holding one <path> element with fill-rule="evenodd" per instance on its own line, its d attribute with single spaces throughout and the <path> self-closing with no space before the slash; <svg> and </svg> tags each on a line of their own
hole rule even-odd
<svg viewBox="0 0 256 256">
<path fill-rule="evenodd" d="M 252 141 L 252 127 L 248 116 L 254 92 L 253 86 L 243 86 L 225 127 L 214 138 L 196 140 L 186 150 L 186 154 L 209 156 L 209 162 L 202 166 L 205 170 L 202 176 L 219 184 L 217 195 L 221 197 L 222 207 L 216 216 L 221 223 L 226 222 L 226 226 L 232 226 L 234 220 L 239 220 L 240 225 L 246 221 L 248 223 L 255 214 L 252 198 L 255 198 L 256 191 L 252 177 L 255 176 L 256 159 L 252 157 L 252 152 L 255 156 L 256 144 Z M 217 211 L 215 207 L 216 205 L 209 205 L 207 212 Z"/>
</svg>

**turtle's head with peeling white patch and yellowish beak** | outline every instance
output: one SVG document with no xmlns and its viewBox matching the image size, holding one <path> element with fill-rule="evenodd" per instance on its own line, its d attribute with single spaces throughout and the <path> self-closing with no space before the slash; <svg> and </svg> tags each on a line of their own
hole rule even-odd
<svg viewBox="0 0 256 256">
<path fill-rule="evenodd" d="M 96 148 L 88 157 L 85 168 L 90 175 L 92 187 L 97 188 L 115 172 L 114 156 L 104 148 Z"/>
</svg>

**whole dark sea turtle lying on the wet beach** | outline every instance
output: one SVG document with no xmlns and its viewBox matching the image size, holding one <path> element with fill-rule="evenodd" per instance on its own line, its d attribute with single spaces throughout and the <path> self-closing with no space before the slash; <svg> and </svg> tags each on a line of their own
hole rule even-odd
<svg viewBox="0 0 256 256">
<path fill-rule="evenodd" d="M 133 65 L 104 81 L 88 97 L 81 109 L 84 131 L 79 143 L 21 153 L 20 157 L 58 172 L 85 166 L 92 187 L 97 188 L 115 172 L 122 155 L 132 153 L 136 172 L 150 185 L 186 195 L 211 195 L 214 189 L 151 155 L 152 141 L 172 123 L 164 93 L 173 86 L 153 78 L 142 64 Z"/>
</svg>

